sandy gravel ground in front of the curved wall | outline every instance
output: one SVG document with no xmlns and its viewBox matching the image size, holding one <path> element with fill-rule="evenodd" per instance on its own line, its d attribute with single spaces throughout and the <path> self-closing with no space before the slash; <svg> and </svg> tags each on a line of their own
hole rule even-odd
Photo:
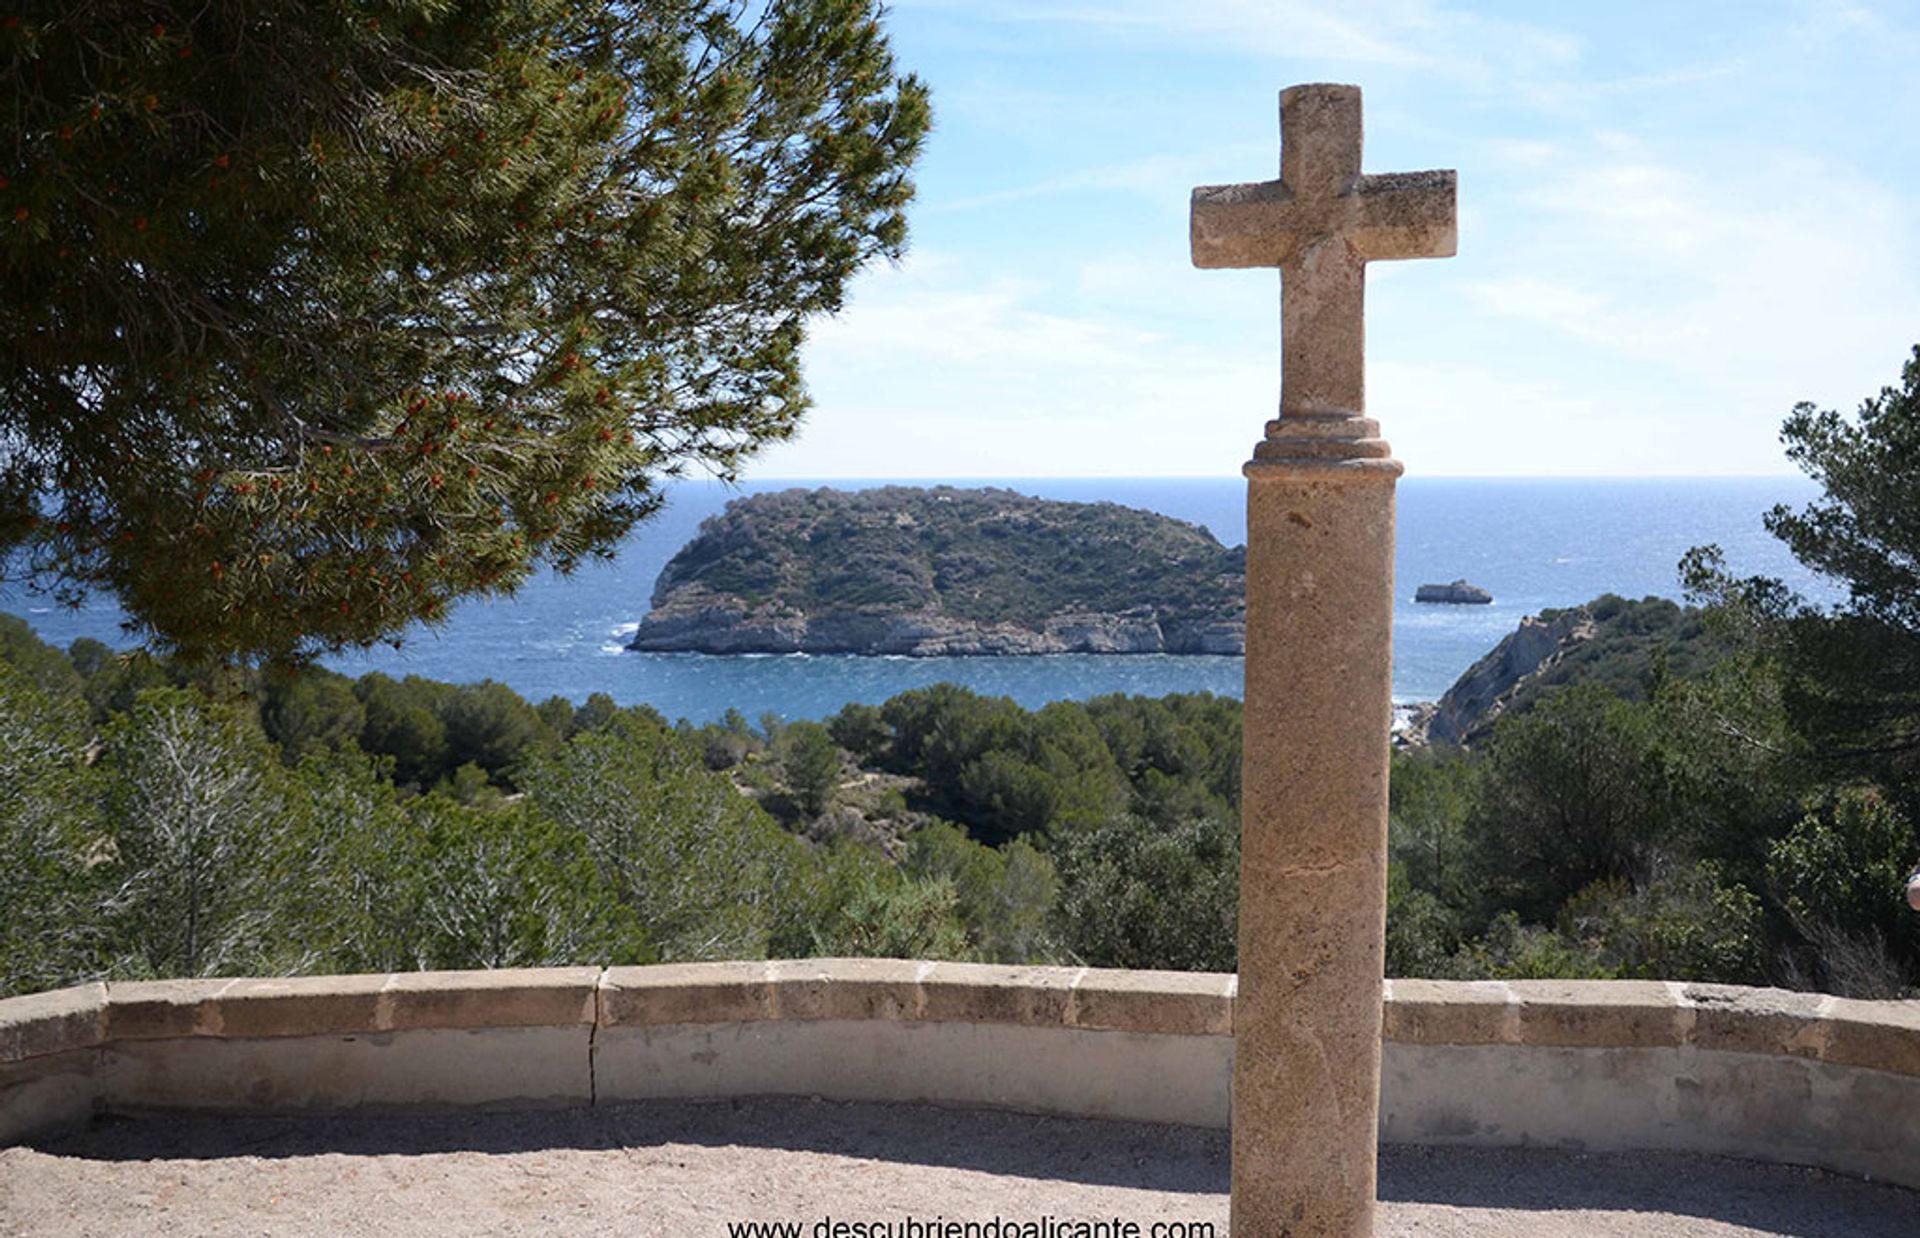
<svg viewBox="0 0 1920 1238">
<path fill-rule="evenodd" d="M 1227 1232 L 1225 1192 L 1221 1132 L 804 1100 L 111 1121 L 0 1150 L 0 1234 L 818 1238 L 998 1215 L 1198 1238 Z M 1695 1155 L 1386 1148 L 1380 1200 L 1380 1234 L 1920 1234 L 1920 1194 Z"/>
</svg>

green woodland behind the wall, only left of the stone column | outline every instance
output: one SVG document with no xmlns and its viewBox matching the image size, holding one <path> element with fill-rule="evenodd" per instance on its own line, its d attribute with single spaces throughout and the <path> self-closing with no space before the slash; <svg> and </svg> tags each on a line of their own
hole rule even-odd
<svg viewBox="0 0 1920 1238">
<path fill-rule="evenodd" d="M 1238 706 L 935 687 L 666 726 L 0 618 L 0 992 L 804 954 L 1223 965 Z M 1198 841 L 1198 848 L 1194 846 Z"/>
</svg>

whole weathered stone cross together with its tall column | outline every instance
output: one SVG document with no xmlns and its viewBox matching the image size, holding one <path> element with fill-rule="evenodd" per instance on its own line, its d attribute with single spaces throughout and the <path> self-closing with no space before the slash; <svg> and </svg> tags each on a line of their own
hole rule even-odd
<svg viewBox="0 0 1920 1238">
<path fill-rule="evenodd" d="M 1365 177 L 1359 88 L 1281 92 L 1281 179 L 1192 196 L 1196 267 L 1281 269 L 1281 417 L 1246 464 L 1235 1238 L 1373 1228 L 1394 480 L 1367 263 L 1453 253 L 1453 173 Z"/>
</svg>

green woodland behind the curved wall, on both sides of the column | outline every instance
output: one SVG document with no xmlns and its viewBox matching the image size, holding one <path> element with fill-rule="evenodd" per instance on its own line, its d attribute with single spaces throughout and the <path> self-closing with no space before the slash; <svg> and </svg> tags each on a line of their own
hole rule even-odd
<svg viewBox="0 0 1920 1238">
<path fill-rule="evenodd" d="M 1724 676 L 1617 693 L 1632 649 L 1473 749 L 1396 756 L 1390 971 L 1910 990 L 1901 802 L 1709 724 Z M 0 988 L 803 954 L 1229 969 L 1238 726 L 1206 695 L 1025 710 L 952 685 L 668 726 L 499 683 L 63 655 L 6 618 Z"/>
</svg>

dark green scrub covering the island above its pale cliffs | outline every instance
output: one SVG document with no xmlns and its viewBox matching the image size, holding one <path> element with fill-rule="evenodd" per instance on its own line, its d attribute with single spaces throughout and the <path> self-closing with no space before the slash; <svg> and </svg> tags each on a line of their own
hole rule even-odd
<svg viewBox="0 0 1920 1238">
<path fill-rule="evenodd" d="M 1117 503 L 1012 489 L 783 489 L 728 503 L 655 587 L 705 585 L 772 607 L 931 610 L 1037 626 L 1150 607 L 1164 626 L 1238 618 L 1246 553 L 1204 528 Z"/>
</svg>

